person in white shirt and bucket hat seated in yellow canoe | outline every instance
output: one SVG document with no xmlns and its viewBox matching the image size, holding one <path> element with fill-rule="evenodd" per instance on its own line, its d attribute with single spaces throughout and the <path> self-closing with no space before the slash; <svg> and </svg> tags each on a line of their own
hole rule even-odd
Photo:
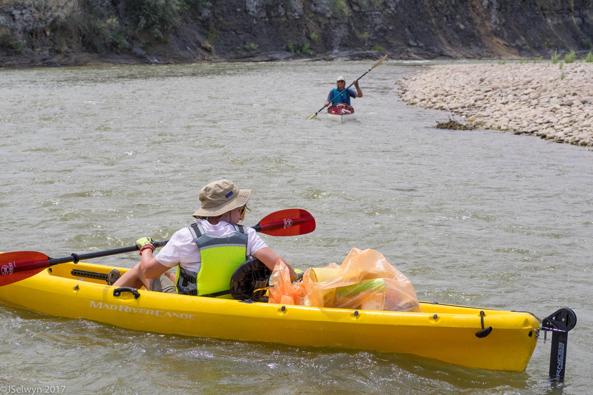
<svg viewBox="0 0 593 395">
<path fill-rule="evenodd" d="M 282 260 L 290 269 L 291 280 L 296 281 L 300 275 L 253 228 L 238 225 L 248 210 L 250 195 L 250 189 L 238 189 L 230 180 L 206 185 L 199 193 L 200 208 L 193 214 L 195 224 L 175 232 L 155 257 L 152 240 L 138 239 L 141 261 L 119 279 L 119 273 L 112 270 L 108 283 L 134 288 L 144 285 L 150 291 L 172 294 L 209 295 L 228 289 L 232 273 L 249 257 L 259 259 L 270 270 Z M 168 271 L 176 266 L 177 273 Z"/>
</svg>

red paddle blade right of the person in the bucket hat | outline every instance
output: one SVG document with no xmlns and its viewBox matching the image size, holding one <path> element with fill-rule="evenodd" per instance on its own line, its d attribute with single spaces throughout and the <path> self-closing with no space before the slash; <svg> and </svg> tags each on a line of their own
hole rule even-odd
<svg viewBox="0 0 593 395">
<path fill-rule="evenodd" d="M 315 218 L 307 210 L 287 209 L 265 216 L 258 225 L 270 236 L 298 236 L 315 230 Z"/>
</svg>

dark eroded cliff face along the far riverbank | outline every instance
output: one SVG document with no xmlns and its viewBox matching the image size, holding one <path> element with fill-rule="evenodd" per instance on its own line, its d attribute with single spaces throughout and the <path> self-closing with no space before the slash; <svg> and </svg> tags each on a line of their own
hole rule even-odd
<svg viewBox="0 0 593 395">
<path fill-rule="evenodd" d="M 192 0 L 160 40 L 129 4 L 2 0 L 0 65 L 549 56 L 593 42 L 589 0 Z"/>
</svg>

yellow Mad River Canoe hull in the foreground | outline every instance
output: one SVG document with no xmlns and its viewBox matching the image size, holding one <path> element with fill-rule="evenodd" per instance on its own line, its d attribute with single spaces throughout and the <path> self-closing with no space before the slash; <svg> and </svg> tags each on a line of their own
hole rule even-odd
<svg viewBox="0 0 593 395">
<path fill-rule="evenodd" d="M 540 324 L 530 313 L 420 302 L 422 313 L 219 300 L 139 289 L 114 296 L 102 279 L 72 270 L 127 269 L 63 263 L 0 287 L 0 301 L 52 316 L 197 337 L 412 353 L 469 368 L 521 372 Z M 117 292 L 116 292 L 117 294 Z M 483 314 L 480 312 L 483 311 Z M 484 327 L 492 332 L 476 333 Z M 487 330 L 485 331 L 487 332 Z M 482 335 L 484 332 L 482 332 Z"/>
</svg>

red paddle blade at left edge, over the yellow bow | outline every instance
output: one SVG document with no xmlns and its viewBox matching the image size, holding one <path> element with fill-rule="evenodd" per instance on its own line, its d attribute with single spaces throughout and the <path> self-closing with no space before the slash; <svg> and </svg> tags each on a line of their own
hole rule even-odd
<svg viewBox="0 0 593 395">
<path fill-rule="evenodd" d="M 49 267 L 49 257 L 36 251 L 0 254 L 0 286 L 24 280 Z"/>
</svg>

